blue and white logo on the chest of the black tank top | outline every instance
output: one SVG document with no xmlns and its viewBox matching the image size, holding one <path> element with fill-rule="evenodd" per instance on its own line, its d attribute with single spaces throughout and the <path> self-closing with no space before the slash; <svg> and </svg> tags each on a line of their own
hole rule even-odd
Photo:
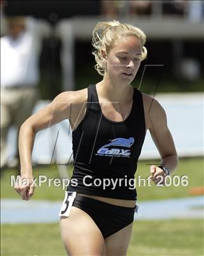
<svg viewBox="0 0 204 256">
<path fill-rule="evenodd" d="M 134 142 L 135 142 L 135 139 L 133 137 L 130 137 L 129 139 L 116 138 L 114 140 L 111 140 L 110 143 L 99 148 L 95 155 L 96 156 L 129 157 L 131 152 L 130 152 L 130 149 L 127 149 L 127 148 L 130 148 Z"/>
</svg>

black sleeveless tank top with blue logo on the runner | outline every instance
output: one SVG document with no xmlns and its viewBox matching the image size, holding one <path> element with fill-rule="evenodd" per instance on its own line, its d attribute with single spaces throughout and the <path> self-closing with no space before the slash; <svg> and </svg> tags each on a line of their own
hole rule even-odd
<svg viewBox="0 0 204 256">
<path fill-rule="evenodd" d="M 142 93 L 133 88 L 129 116 L 108 120 L 101 111 L 96 84 L 88 87 L 87 109 L 72 132 L 74 170 L 68 191 L 136 200 L 135 172 L 145 139 Z"/>
</svg>

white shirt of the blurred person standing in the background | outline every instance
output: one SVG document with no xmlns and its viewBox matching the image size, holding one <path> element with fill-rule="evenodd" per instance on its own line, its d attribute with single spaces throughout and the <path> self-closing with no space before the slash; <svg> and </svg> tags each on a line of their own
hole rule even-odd
<svg viewBox="0 0 204 256">
<path fill-rule="evenodd" d="M 35 86 L 38 83 L 39 25 L 34 19 L 27 18 L 26 29 L 16 40 L 9 35 L 1 38 L 1 87 Z"/>
</svg>

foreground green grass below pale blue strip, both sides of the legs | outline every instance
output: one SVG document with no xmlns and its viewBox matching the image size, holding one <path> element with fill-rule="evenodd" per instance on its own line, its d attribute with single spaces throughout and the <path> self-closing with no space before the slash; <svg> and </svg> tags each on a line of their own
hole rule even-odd
<svg viewBox="0 0 204 256">
<path fill-rule="evenodd" d="M 1 255 L 66 255 L 59 224 L 2 225 Z M 203 255 L 202 220 L 135 221 L 130 255 Z"/>
</svg>

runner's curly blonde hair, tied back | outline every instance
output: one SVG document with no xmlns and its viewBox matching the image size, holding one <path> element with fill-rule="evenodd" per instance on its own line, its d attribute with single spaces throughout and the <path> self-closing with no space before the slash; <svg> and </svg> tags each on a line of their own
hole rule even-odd
<svg viewBox="0 0 204 256">
<path fill-rule="evenodd" d="M 146 35 L 143 31 L 131 24 L 120 23 L 117 20 L 108 22 L 98 22 L 92 31 L 92 54 L 95 57 L 94 66 L 101 76 L 105 74 L 105 62 L 103 61 L 102 51 L 109 52 L 113 44 L 122 36 L 136 36 L 142 44 L 141 61 L 147 57 L 147 49 L 143 46 L 146 42 Z"/>
</svg>

